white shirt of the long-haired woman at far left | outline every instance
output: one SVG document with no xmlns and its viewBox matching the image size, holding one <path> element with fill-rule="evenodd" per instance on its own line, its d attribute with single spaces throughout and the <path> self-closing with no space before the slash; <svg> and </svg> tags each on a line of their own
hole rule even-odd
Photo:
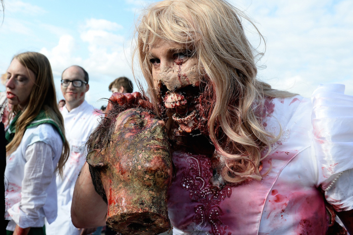
<svg viewBox="0 0 353 235">
<path fill-rule="evenodd" d="M 5 169 L 5 217 L 7 230 L 20 227 L 42 227 L 44 218 L 56 218 L 56 184 L 54 169 L 60 159 L 63 141 L 50 124 L 25 131 L 15 152 L 7 156 Z"/>
</svg>

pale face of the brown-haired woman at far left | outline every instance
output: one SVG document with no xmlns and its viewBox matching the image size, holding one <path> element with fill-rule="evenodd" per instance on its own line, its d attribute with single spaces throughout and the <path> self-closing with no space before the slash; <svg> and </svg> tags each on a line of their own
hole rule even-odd
<svg viewBox="0 0 353 235">
<path fill-rule="evenodd" d="M 29 101 L 36 76 L 16 58 L 12 60 L 7 74 L 6 96 L 11 105 L 18 104 L 22 109 Z"/>
</svg>

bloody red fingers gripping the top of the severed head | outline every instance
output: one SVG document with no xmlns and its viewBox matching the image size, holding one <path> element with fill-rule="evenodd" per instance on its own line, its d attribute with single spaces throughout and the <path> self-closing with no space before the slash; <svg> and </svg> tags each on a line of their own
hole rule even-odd
<svg viewBox="0 0 353 235">
<path fill-rule="evenodd" d="M 144 100 L 140 92 L 133 92 L 133 93 L 113 93 L 108 101 L 108 105 L 105 109 L 105 116 L 110 109 L 112 109 L 112 103 L 118 103 L 119 105 L 124 105 L 126 103 L 135 104 L 137 106 L 141 106 L 142 108 L 149 108 L 152 109 L 153 105 L 151 102 Z"/>
</svg>

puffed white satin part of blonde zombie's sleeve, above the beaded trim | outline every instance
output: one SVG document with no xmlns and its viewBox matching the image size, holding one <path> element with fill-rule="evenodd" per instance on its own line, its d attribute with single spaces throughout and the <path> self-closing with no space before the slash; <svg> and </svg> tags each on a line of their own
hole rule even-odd
<svg viewBox="0 0 353 235">
<path fill-rule="evenodd" d="M 344 85 L 320 85 L 312 103 L 313 147 L 322 183 L 353 168 L 353 96 L 344 94 Z"/>
</svg>

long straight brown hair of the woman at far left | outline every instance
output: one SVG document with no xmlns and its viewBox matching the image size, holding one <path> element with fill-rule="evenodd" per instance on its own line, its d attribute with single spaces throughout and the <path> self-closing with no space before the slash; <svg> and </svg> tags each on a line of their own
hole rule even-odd
<svg viewBox="0 0 353 235">
<path fill-rule="evenodd" d="M 14 152 L 22 141 L 26 127 L 37 117 L 41 110 L 50 116 L 58 125 L 64 136 L 63 152 L 56 169 L 62 174 L 65 162 L 69 157 L 69 144 L 65 137 L 64 119 L 56 104 L 56 93 L 50 63 L 45 55 L 38 52 L 24 52 L 15 55 L 21 65 L 31 70 L 35 74 L 35 84 L 29 95 L 27 106 L 22 110 L 16 122 L 16 133 L 13 140 L 6 146 L 7 154 Z M 20 110 L 18 105 L 14 105 L 12 113 Z"/>
</svg>

